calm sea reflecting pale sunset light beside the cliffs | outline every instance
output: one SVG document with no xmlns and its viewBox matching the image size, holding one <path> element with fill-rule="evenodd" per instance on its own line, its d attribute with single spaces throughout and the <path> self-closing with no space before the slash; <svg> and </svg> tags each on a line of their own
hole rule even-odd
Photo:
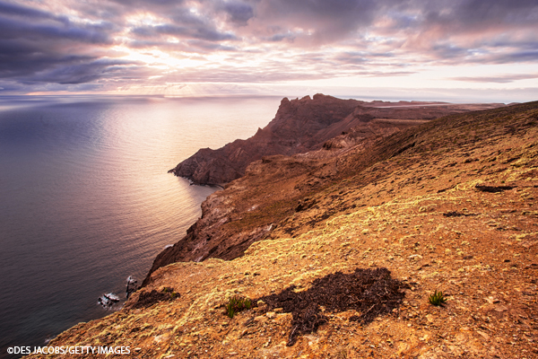
<svg viewBox="0 0 538 359">
<path fill-rule="evenodd" d="M 279 102 L 0 98 L 0 357 L 108 314 L 98 297 L 123 300 L 216 190 L 167 171 L 254 135 Z"/>
</svg>

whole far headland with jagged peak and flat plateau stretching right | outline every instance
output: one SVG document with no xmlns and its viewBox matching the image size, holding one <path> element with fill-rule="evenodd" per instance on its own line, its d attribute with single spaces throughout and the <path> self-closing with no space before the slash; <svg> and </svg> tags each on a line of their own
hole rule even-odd
<svg viewBox="0 0 538 359">
<path fill-rule="evenodd" d="M 196 184 L 224 185 L 245 174 L 249 163 L 263 156 L 306 153 L 317 150 L 330 138 L 351 127 L 360 127 L 360 139 L 387 135 L 403 127 L 416 125 L 404 119 L 433 119 L 471 109 L 499 107 L 489 105 L 456 105 L 436 102 L 383 102 L 340 100 L 323 94 L 289 101 L 284 98 L 275 118 L 259 128 L 255 136 L 236 140 L 218 150 L 204 148 L 169 172 Z M 399 119 L 370 123 L 376 118 Z M 357 138 L 357 137 L 356 137 Z"/>
</svg>

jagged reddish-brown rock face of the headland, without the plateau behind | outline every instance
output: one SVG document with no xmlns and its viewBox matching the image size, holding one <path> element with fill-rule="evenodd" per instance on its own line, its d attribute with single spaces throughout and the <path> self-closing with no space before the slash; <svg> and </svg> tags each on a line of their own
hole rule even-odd
<svg viewBox="0 0 538 359">
<path fill-rule="evenodd" d="M 300 100 L 282 99 L 275 118 L 255 136 L 236 140 L 218 150 L 204 148 L 170 172 L 197 184 L 223 185 L 245 174 L 250 162 L 272 154 L 304 153 L 312 149 L 313 136 L 343 120 L 360 101 L 317 94 Z M 321 142 L 330 137 L 324 137 Z"/>
</svg>

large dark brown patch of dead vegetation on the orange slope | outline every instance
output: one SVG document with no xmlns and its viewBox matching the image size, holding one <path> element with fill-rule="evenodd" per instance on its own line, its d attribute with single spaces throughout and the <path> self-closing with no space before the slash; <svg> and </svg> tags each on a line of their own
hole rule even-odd
<svg viewBox="0 0 538 359">
<path fill-rule="evenodd" d="M 299 335 L 315 332 L 328 321 L 324 312 L 358 311 L 360 315 L 350 320 L 366 325 L 399 307 L 407 287 L 386 268 L 356 268 L 350 274 L 336 272 L 317 278 L 306 291 L 295 292 L 296 286 L 291 285 L 258 300 L 267 304 L 265 311 L 282 308 L 292 314 L 287 346 L 293 346 Z"/>
</svg>

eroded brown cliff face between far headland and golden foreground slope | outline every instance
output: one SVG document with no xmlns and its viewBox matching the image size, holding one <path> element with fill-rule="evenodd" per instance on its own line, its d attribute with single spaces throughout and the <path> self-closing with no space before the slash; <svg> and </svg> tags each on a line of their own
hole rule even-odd
<svg viewBox="0 0 538 359">
<path fill-rule="evenodd" d="M 283 155 L 251 163 L 246 176 L 207 197 L 202 204 L 202 217 L 181 241 L 161 251 L 150 273 L 175 262 L 238 258 L 252 243 L 264 239 L 283 215 L 291 214 L 291 205 L 303 192 L 294 186 L 317 166 L 317 159 Z M 328 174 L 326 169 L 323 171 Z M 288 210 L 282 211 L 284 208 Z M 143 285 L 149 278 L 148 275 Z"/>
</svg>

